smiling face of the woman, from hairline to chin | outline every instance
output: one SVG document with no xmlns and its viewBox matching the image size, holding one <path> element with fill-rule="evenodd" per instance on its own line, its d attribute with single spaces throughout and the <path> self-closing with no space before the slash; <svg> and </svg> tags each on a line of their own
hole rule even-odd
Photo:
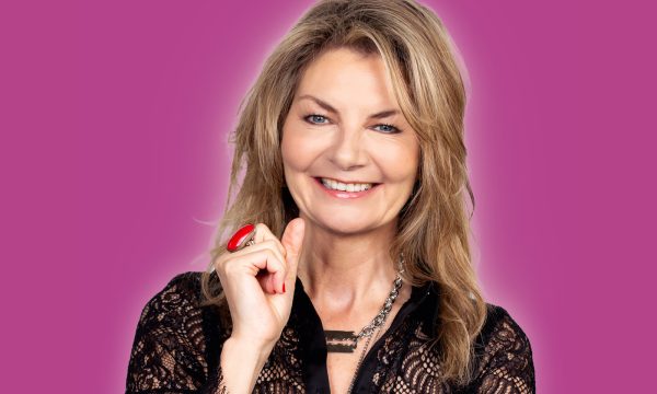
<svg viewBox="0 0 657 394">
<path fill-rule="evenodd" d="M 416 179 L 419 144 L 381 58 L 339 48 L 303 73 L 281 153 L 307 223 L 354 234 L 394 228 Z"/>
</svg>

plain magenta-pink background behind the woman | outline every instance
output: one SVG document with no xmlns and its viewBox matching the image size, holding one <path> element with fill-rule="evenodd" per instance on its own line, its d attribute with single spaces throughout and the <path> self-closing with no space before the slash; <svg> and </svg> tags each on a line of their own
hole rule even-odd
<svg viewBox="0 0 657 394">
<path fill-rule="evenodd" d="M 2 392 L 124 391 L 142 306 L 206 267 L 239 102 L 310 3 L 0 5 Z M 424 3 L 470 71 L 477 269 L 539 392 L 646 392 L 654 11 Z"/>
</svg>

